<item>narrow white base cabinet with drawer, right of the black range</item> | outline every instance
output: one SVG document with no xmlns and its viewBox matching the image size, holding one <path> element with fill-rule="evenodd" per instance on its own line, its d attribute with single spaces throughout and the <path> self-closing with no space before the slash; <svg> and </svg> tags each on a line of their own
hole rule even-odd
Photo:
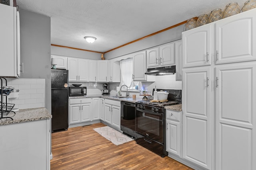
<svg viewBox="0 0 256 170">
<path fill-rule="evenodd" d="M 180 156 L 181 112 L 166 110 L 166 151 Z"/>
</svg>

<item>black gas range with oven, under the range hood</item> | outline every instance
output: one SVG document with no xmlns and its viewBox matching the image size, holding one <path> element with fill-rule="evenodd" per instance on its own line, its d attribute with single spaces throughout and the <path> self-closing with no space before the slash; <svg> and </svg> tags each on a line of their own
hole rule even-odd
<svg viewBox="0 0 256 170">
<path fill-rule="evenodd" d="M 165 145 L 165 106 L 181 103 L 181 90 L 164 90 L 169 92 L 167 102 L 141 100 L 135 103 L 135 141 L 139 145 L 164 157 L 168 155 Z"/>
</svg>

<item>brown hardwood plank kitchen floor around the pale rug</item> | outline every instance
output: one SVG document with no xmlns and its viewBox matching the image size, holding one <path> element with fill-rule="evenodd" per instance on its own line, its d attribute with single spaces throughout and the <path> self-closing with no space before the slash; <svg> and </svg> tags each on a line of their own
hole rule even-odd
<svg viewBox="0 0 256 170">
<path fill-rule="evenodd" d="M 96 123 L 52 133 L 51 170 L 192 170 L 135 141 L 116 146 L 93 130 L 103 126 Z"/>
</svg>

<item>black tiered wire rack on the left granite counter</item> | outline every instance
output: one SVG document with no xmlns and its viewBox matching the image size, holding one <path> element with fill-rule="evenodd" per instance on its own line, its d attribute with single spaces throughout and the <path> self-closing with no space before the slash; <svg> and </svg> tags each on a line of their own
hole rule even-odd
<svg viewBox="0 0 256 170">
<path fill-rule="evenodd" d="M 15 104 L 10 104 L 7 103 L 7 96 L 14 90 L 13 87 L 7 86 L 7 80 L 4 77 L 0 77 L 1 80 L 1 87 L 0 87 L 0 94 L 1 94 L 1 107 L 0 107 L 0 119 L 12 119 L 12 117 L 4 117 L 7 116 L 10 112 L 13 112 L 16 114 L 14 111 L 12 111 L 12 108 L 14 107 Z M 3 86 L 3 80 L 5 80 L 5 86 Z M 5 98 L 5 102 L 4 99 Z"/>
</svg>

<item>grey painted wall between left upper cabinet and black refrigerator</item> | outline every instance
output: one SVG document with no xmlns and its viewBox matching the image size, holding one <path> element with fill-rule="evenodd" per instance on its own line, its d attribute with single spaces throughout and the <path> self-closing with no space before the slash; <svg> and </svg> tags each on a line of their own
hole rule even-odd
<svg viewBox="0 0 256 170">
<path fill-rule="evenodd" d="M 50 29 L 50 17 L 20 9 L 20 78 L 45 79 L 45 107 L 51 113 Z"/>
</svg>

